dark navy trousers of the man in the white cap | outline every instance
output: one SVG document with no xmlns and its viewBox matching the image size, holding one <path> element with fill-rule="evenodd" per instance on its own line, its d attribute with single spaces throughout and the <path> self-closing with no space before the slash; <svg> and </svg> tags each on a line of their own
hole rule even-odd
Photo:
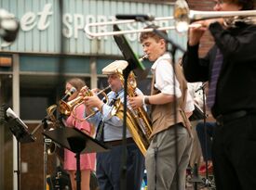
<svg viewBox="0 0 256 190">
<path fill-rule="evenodd" d="M 119 190 L 122 146 L 108 152 L 97 153 L 97 179 L 101 190 Z M 140 190 L 144 173 L 144 157 L 134 144 L 127 146 L 127 190 Z"/>
</svg>

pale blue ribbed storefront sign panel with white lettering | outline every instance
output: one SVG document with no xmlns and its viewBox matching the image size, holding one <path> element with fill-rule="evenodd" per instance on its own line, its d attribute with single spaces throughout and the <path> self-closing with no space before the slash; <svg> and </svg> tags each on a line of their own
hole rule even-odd
<svg viewBox="0 0 256 190">
<path fill-rule="evenodd" d="M 20 32 L 13 44 L 4 44 L 4 52 L 24 52 L 36 54 L 70 55 L 121 55 L 113 36 L 90 38 L 85 32 L 86 24 L 98 21 L 111 21 L 116 14 L 152 14 L 155 17 L 168 17 L 172 14 L 171 4 L 149 4 L 120 2 L 111 0 L 63 0 L 63 15 L 60 15 L 59 1 L 56 0 L 0 0 L 1 7 L 15 14 L 20 20 Z M 26 19 L 27 18 L 27 19 Z M 29 18 L 29 19 L 28 19 Z M 62 29 L 61 29 L 62 24 Z M 162 21 L 156 23 L 168 25 Z M 119 25 L 122 30 L 144 27 L 141 23 Z M 96 29 L 92 29 L 96 30 Z M 112 27 L 102 26 L 100 31 L 112 31 Z M 61 35 L 62 33 L 62 35 Z M 175 31 L 171 38 L 185 47 L 187 37 Z M 138 55 L 142 55 L 139 34 L 126 34 L 129 44 Z"/>
</svg>

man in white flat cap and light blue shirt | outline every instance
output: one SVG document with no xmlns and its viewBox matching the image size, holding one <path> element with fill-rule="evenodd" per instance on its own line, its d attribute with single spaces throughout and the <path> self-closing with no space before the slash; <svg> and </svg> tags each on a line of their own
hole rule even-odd
<svg viewBox="0 0 256 190">
<path fill-rule="evenodd" d="M 113 116 L 111 112 L 116 98 L 121 98 L 123 102 L 124 88 L 118 71 L 122 73 L 122 70 L 126 69 L 127 66 L 127 61 L 116 60 L 102 70 L 102 73 L 108 76 L 108 82 L 112 90 L 107 95 L 108 104 L 101 101 L 97 95 L 85 97 L 87 115 L 90 113 L 90 108 L 100 110 L 88 120 L 98 126 L 96 138 L 111 147 L 108 152 L 97 153 L 96 174 L 101 190 L 120 189 L 123 120 Z M 136 89 L 136 93 L 142 94 L 139 89 Z M 128 130 L 127 143 L 127 189 L 140 190 L 144 171 L 144 157 Z"/>
</svg>

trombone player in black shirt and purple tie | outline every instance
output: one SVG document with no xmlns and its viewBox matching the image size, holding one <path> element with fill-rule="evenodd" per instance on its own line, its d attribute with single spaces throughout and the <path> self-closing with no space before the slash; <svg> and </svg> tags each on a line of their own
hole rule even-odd
<svg viewBox="0 0 256 190">
<path fill-rule="evenodd" d="M 215 0 L 215 11 L 253 10 L 253 0 Z M 237 13 L 236 13 L 237 14 Z M 250 20 L 252 19 L 252 20 Z M 209 81 L 208 107 L 217 121 L 212 162 L 217 189 L 256 186 L 256 26 L 253 17 L 206 19 L 189 31 L 183 70 L 189 82 Z M 198 57 L 204 32 L 214 45 Z"/>
</svg>

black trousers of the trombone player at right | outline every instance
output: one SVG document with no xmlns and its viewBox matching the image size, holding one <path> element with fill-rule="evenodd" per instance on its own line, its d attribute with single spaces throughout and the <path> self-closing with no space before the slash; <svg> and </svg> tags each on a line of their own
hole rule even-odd
<svg viewBox="0 0 256 190">
<path fill-rule="evenodd" d="M 218 190 L 256 189 L 255 115 L 216 127 L 212 160 Z"/>
</svg>

